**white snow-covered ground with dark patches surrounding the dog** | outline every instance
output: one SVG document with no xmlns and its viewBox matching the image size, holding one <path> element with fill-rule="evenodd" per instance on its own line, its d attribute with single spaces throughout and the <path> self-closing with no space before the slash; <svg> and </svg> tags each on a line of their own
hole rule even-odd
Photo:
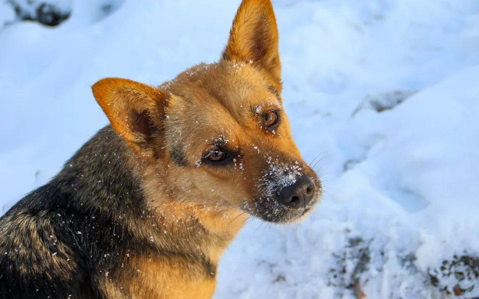
<svg viewBox="0 0 479 299">
<path fill-rule="evenodd" d="M 239 2 L 130 0 L 102 19 L 73 0 L 60 26 L 0 29 L 1 212 L 107 123 L 90 85 L 216 60 Z M 216 298 L 479 298 L 479 2 L 273 3 L 286 110 L 328 193 L 302 224 L 248 224 Z"/>
</svg>

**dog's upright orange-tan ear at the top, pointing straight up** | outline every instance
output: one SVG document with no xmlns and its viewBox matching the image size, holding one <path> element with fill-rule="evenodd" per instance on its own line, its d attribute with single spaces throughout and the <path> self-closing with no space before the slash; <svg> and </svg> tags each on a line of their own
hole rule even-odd
<svg viewBox="0 0 479 299">
<path fill-rule="evenodd" d="M 281 82 L 278 29 L 271 0 L 243 0 L 230 31 L 223 58 L 240 58 L 268 71 Z"/>
</svg>

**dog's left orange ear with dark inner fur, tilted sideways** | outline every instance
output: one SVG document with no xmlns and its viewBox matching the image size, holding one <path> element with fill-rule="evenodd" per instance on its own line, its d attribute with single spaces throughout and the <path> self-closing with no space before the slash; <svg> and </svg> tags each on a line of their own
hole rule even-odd
<svg viewBox="0 0 479 299">
<path fill-rule="evenodd" d="M 169 93 L 121 78 L 102 79 L 92 90 L 113 129 L 139 153 L 152 133 L 159 130 Z"/>
</svg>

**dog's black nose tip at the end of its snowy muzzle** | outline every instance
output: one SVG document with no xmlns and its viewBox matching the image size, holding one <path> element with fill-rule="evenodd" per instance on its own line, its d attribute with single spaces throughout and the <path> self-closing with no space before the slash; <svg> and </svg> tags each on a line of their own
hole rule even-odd
<svg viewBox="0 0 479 299">
<path fill-rule="evenodd" d="M 283 187 L 279 192 L 279 201 L 293 209 L 304 208 L 313 198 L 314 183 L 307 176 L 303 174 L 292 185 Z"/>
</svg>

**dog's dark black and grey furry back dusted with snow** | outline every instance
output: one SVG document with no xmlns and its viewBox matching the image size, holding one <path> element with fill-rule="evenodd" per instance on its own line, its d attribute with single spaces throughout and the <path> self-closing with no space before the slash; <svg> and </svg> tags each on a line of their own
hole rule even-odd
<svg viewBox="0 0 479 299">
<path fill-rule="evenodd" d="M 0 298 L 102 297 L 99 271 L 136 245 L 128 222 L 144 210 L 129 151 L 104 128 L 0 218 Z"/>
</svg>

